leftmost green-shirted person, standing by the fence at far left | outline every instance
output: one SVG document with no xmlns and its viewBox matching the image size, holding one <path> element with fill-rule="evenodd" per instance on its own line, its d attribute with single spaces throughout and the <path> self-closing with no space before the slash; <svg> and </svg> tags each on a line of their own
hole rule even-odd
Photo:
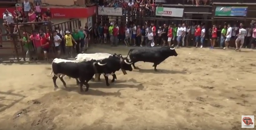
<svg viewBox="0 0 256 130">
<path fill-rule="evenodd" d="M 30 52 L 33 51 L 33 45 L 32 45 L 32 43 L 31 43 L 31 41 L 28 40 L 28 39 L 29 39 L 28 33 L 23 32 L 23 35 L 24 35 L 24 36 L 23 36 L 22 39 L 20 39 L 20 41 L 21 41 L 22 44 L 23 44 L 23 49 L 24 49 L 24 51 L 26 51 L 26 57 L 28 57 L 29 60 L 31 61 L 31 60 L 32 60 L 32 56 L 31 56 L 31 53 L 30 53 Z"/>
</svg>

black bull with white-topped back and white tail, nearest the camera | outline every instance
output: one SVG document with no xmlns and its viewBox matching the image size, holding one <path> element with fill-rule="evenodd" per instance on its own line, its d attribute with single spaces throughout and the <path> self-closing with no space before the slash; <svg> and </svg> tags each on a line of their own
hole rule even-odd
<svg viewBox="0 0 256 130">
<path fill-rule="evenodd" d="M 52 72 L 53 73 L 53 84 L 55 88 L 58 88 L 56 80 L 59 77 L 62 81 L 64 87 L 67 87 L 66 82 L 63 77 L 67 75 L 75 79 L 79 79 L 80 91 L 83 91 L 83 84 L 86 86 L 86 90 L 89 89 L 88 81 L 93 78 L 93 75 L 97 73 L 97 70 L 104 70 L 106 63 L 102 64 L 98 61 L 75 61 L 75 60 L 65 60 L 55 58 L 52 62 Z M 78 81 L 78 80 L 77 80 Z"/>
</svg>

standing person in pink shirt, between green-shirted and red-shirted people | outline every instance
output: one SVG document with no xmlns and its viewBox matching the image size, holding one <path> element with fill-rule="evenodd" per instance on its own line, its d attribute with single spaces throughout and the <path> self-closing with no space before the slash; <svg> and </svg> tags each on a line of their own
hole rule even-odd
<svg viewBox="0 0 256 130">
<path fill-rule="evenodd" d="M 41 52 L 42 52 L 42 47 L 41 47 L 41 41 L 40 41 L 40 35 L 37 34 L 37 32 L 34 30 L 32 32 L 32 35 L 29 37 L 34 44 L 35 50 L 37 51 L 38 57 L 40 57 Z"/>
</svg>

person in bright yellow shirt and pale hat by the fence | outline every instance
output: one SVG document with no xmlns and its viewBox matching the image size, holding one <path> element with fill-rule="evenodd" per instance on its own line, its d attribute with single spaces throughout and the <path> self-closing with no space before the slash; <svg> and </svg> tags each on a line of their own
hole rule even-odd
<svg viewBox="0 0 256 130">
<path fill-rule="evenodd" d="M 70 32 L 67 30 L 66 35 L 64 36 L 64 40 L 65 40 L 65 44 L 66 44 L 66 51 L 67 54 L 73 58 L 72 56 L 72 51 L 73 51 L 73 43 L 72 41 L 77 44 L 77 42 L 75 41 L 75 39 L 73 39 L 72 35 L 70 35 Z"/>
</svg>

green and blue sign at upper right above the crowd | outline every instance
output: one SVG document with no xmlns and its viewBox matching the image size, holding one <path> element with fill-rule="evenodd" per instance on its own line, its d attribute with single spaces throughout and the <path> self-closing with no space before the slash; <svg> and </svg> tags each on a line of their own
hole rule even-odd
<svg viewBox="0 0 256 130">
<path fill-rule="evenodd" d="M 246 16 L 248 7 L 219 7 L 215 9 L 215 16 Z"/>
</svg>

